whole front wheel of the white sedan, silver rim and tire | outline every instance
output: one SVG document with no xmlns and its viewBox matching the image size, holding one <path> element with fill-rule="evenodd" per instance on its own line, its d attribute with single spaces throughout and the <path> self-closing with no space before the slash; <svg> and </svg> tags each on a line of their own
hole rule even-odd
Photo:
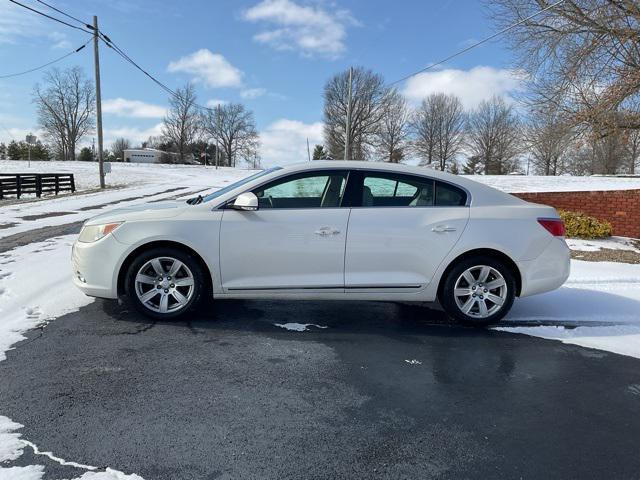
<svg viewBox="0 0 640 480">
<path fill-rule="evenodd" d="M 127 293 L 134 306 L 156 319 L 175 318 L 191 310 L 204 289 L 199 262 L 173 248 L 140 254 L 127 273 Z"/>
</svg>

